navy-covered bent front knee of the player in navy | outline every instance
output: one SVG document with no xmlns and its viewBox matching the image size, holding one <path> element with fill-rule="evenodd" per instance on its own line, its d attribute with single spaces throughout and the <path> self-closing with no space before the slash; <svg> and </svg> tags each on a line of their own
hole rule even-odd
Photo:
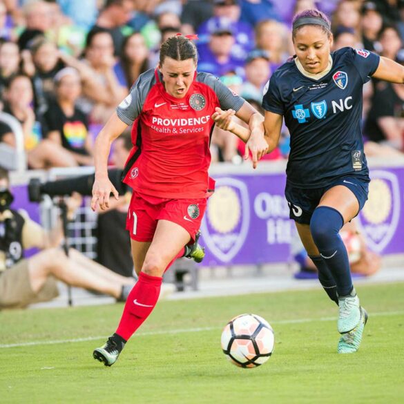
<svg viewBox="0 0 404 404">
<path fill-rule="evenodd" d="M 336 209 L 329 206 L 316 208 L 310 220 L 310 232 L 316 245 L 338 237 L 343 224 L 343 217 Z"/>
</svg>

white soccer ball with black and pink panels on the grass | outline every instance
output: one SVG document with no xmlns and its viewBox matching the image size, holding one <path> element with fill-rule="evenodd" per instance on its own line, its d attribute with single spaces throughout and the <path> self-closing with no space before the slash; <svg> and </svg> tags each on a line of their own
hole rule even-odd
<svg viewBox="0 0 404 404">
<path fill-rule="evenodd" d="M 240 367 L 257 367 L 271 356 L 275 336 L 264 318 L 256 314 L 240 314 L 224 327 L 221 341 L 223 352 L 231 363 Z"/>
</svg>

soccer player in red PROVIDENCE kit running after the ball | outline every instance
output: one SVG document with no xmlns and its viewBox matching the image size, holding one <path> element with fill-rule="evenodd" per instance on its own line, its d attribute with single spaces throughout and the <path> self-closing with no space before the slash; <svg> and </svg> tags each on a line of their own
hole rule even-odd
<svg viewBox="0 0 404 404">
<path fill-rule="evenodd" d="M 213 190 L 208 175 L 215 124 L 211 115 L 232 110 L 249 124 L 251 135 L 242 140 L 246 153 L 253 153 L 254 168 L 267 153 L 262 115 L 217 78 L 197 73 L 197 62 L 191 39 L 167 39 L 157 69 L 140 75 L 95 141 L 93 210 L 97 205 L 106 209 L 110 193 L 118 196 L 108 180 L 108 153 L 113 140 L 132 126 L 133 149 L 124 170 L 124 182 L 133 188 L 126 228 L 139 280 L 117 330 L 93 352 L 106 366 L 115 363 L 126 341 L 153 311 L 164 271 L 176 258 L 195 257 L 206 199 Z"/>
</svg>

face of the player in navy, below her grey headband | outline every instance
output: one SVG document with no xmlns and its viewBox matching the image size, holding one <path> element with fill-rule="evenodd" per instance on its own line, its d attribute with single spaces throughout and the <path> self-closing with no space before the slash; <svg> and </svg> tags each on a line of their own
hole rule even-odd
<svg viewBox="0 0 404 404">
<path fill-rule="evenodd" d="M 294 49 L 303 68 L 312 74 L 321 73 L 328 66 L 332 36 L 320 26 L 302 26 L 294 37 Z"/>
</svg>

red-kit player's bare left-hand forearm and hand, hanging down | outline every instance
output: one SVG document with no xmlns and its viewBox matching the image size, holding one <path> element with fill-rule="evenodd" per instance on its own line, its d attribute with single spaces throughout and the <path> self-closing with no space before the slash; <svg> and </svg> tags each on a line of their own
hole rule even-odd
<svg viewBox="0 0 404 404">
<path fill-rule="evenodd" d="M 128 125 L 119 119 L 116 112 L 108 119 L 104 128 L 99 132 L 94 144 L 95 181 L 93 184 L 93 199 L 91 209 L 95 211 L 97 204 L 104 211 L 109 207 L 109 195 L 112 192 L 118 200 L 118 191 L 108 178 L 108 155 L 112 142 L 126 129 Z"/>
</svg>

